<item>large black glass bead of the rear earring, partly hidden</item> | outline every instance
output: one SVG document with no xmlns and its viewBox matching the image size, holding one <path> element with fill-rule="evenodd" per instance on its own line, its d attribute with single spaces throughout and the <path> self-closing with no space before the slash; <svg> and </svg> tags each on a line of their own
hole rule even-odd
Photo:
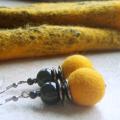
<svg viewBox="0 0 120 120">
<path fill-rule="evenodd" d="M 52 81 L 51 71 L 48 69 L 41 70 L 37 74 L 37 83 L 39 86 L 42 86 L 44 83 Z"/>
</svg>

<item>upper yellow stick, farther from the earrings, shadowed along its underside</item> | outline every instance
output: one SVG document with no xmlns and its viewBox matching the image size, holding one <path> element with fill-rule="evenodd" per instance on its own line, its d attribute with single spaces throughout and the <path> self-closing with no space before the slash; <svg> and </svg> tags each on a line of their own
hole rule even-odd
<svg viewBox="0 0 120 120">
<path fill-rule="evenodd" d="M 59 24 L 120 29 L 120 1 L 41 3 L 0 8 L 0 27 Z"/>
</svg>

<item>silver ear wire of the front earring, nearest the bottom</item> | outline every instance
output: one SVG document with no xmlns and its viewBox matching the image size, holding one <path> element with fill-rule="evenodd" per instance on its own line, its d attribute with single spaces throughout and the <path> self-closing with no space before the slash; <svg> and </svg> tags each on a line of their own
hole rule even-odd
<svg viewBox="0 0 120 120">
<path fill-rule="evenodd" d="M 17 102 L 20 98 L 29 98 L 29 97 L 30 97 L 29 92 L 23 91 L 19 96 L 12 96 L 10 98 L 5 99 L 2 103 L 0 103 L 0 105 L 4 105 L 10 101 Z"/>
</svg>

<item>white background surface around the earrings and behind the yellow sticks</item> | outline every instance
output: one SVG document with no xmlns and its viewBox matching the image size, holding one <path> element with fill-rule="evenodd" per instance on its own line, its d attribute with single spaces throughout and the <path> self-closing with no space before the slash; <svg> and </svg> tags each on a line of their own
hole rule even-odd
<svg viewBox="0 0 120 120">
<path fill-rule="evenodd" d="M 24 1 L 24 0 L 23 0 Z M 20 0 L 0 0 L 0 6 L 28 5 Z M 34 0 L 35 1 L 35 0 Z M 37 1 L 37 0 L 36 0 Z M 84 53 L 85 54 L 85 53 Z M 40 98 L 21 99 L 0 106 L 0 120 L 120 120 L 120 52 L 85 54 L 106 81 L 107 88 L 103 100 L 91 108 L 79 107 L 66 103 L 57 106 L 45 106 Z M 0 63 L 0 86 L 3 89 L 12 82 L 34 78 L 41 68 L 55 67 L 62 64 L 64 58 L 27 59 Z M 34 89 L 27 85 L 12 89 L 0 95 L 0 101 L 21 91 Z"/>
</svg>

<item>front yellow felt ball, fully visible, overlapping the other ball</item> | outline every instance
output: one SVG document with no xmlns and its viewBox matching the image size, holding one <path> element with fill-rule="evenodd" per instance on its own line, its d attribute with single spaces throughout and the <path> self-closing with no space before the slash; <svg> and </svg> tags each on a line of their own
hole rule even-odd
<svg viewBox="0 0 120 120">
<path fill-rule="evenodd" d="M 105 93 L 102 75 L 90 68 L 80 68 L 68 77 L 73 102 L 83 106 L 92 106 L 99 102 Z"/>
</svg>

